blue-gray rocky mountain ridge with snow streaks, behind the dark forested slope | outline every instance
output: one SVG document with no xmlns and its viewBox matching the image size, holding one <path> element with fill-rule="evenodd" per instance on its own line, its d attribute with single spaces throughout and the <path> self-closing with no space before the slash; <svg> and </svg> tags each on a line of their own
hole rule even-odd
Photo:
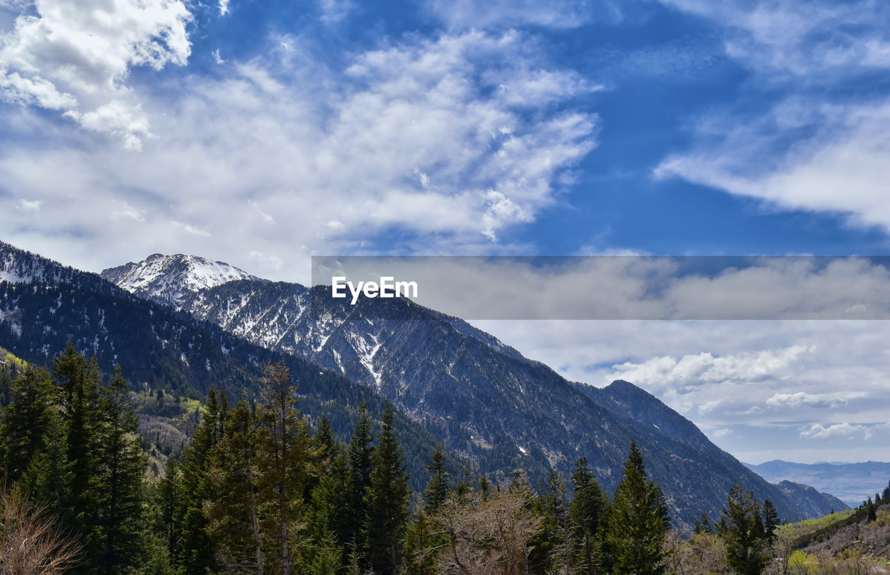
<svg viewBox="0 0 890 575">
<path fill-rule="evenodd" d="M 495 481 L 516 468 L 528 470 L 533 483 L 551 468 L 569 474 L 583 456 L 613 490 L 636 441 L 680 527 L 690 527 L 702 511 L 718 516 L 734 482 L 772 499 L 789 521 L 830 511 L 818 494 L 801 511 L 778 486 L 635 385 L 597 389 L 567 381 L 465 321 L 408 299 L 351 305 L 325 287 L 235 279 L 179 292 L 177 305 L 232 336 L 366 385 Z"/>
</svg>

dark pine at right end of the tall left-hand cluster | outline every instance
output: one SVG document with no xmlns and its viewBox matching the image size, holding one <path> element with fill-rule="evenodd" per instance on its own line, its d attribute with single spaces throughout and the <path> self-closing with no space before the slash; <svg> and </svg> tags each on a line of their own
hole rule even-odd
<svg viewBox="0 0 890 575">
<path fill-rule="evenodd" d="M 127 401 L 120 366 L 102 398 L 99 432 L 101 485 L 99 498 L 100 565 L 107 573 L 126 571 L 141 555 L 144 539 L 142 484 L 146 458 L 134 437 L 136 417 Z"/>
</svg>

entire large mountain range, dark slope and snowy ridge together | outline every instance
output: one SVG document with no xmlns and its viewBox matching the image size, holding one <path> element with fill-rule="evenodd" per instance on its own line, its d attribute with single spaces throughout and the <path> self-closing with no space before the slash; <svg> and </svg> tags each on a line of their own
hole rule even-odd
<svg viewBox="0 0 890 575">
<path fill-rule="evenodd" d="M 537 484 L 584 456 L 612 490 L 636 441 L 680 528 L 703 511 L 718 516 L 734 482 L 772 499 L 789 521 L 838 507 L 815 490 L 766 482 L 635 385 L 567 381 L 409 300 L 352 306 L 326 288 L 188 255 L 152 255 L 100 278 L 0 243 L 0 273 L 0 345 L 20 357 L 45 363 L 72 340 L 103 368 L 120 362 L 134 385 L 200 394 L 212 383 L 236 397 L 255 389 L 260 363 L 286 358 L 301 408 L 327 414 L 341 434 L 362 397 L 376 412 L 392 401 L 416 485 L 438 441 L 457 469 L 498 482 L 522 468 Z"/>
</svg>

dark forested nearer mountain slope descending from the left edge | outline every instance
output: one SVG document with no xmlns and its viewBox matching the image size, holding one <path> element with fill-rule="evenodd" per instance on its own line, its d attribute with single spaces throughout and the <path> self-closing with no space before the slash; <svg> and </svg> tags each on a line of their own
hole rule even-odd
<svg viewBox="0 0 890 575">
<path fill-rule="evenodd" d="M 313 422 L 327 416 L 341 439 L 348 439 L 359 405 L 366 401 L 379 426 L 385 399 L 374 390 L 309 360 L 272 352 L 172 307 L 143 300 L 96 274 L 4 243 L 0 274 L 6 278 L 0 281 L 0 347 L 23 360 L 49 365 L 71 342 L 78 352 L 95 356 L 106 374 L 120 364 L 134 390 L 204 398 L 214 385 L 231 401 L 254 397 L 262 364 L 283 360 L 299 382 L 299 408 Z M 396 429 L 406 443 L 412 487 L 422 489 L 437 441 L 401 412 Z M 449 459 L 449 471 L 456 476 L 468 465 L 455 453 Z"/>
</svg>

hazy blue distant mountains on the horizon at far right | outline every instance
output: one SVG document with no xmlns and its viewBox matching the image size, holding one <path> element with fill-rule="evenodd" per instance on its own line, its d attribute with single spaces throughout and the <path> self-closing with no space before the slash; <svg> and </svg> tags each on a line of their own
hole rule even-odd
<svg viewBox="0 0 890 575">
<path fill-rule="evenodd" d="M 890 463 L 791 463 L 774 459 L 759 466 L 745 464 L 768 481 L 789 480 L 806 483 L 837 496 L 849 506 L 874 498 L 890 480 Z"/>
</svg>

